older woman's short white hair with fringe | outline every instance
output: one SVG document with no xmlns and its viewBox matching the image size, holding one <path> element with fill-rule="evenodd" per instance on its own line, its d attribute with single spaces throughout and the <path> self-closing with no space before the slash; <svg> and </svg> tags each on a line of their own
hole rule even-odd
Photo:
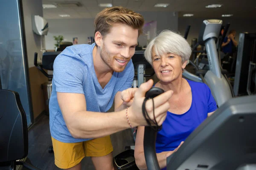
<svg viewBox="0 0 256 170">
<path fill-rule="evenodd" d="M 187 61 L 189 63 L 189 57 L 192 53 L 189 43 L 180 34 L 174 31 L 163 30 L 157 37 L 149 42 L 144 56 L 146 60 L 152 65 L 152 49 L 157 56 L 161 56 L 166 53 L 176 54 L 181 57 L 182 64 Z"/>
</svg>

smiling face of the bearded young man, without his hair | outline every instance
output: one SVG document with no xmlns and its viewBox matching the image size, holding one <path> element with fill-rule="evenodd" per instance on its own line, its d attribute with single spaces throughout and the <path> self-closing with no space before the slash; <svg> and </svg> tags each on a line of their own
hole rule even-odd
<svg viewBox="0 0 256 170">
<path fill-rule="evenodd" d="M 124 24 L 113 26 L 101 41 L 100 56 L 115 72 L 121 72 L 135 53 L 138 30 Z"/>
</svg>

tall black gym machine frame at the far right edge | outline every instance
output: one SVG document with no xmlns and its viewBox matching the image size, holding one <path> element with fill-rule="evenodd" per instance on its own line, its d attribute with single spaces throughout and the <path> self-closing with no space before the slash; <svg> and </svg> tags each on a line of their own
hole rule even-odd
<svg viewBox="0 0 256 170">
<path fill-rule="evenodd" d="M 240 33 L 236 57 L 234 93 L 236 96 L 256 93 L 256 33 Z M 248 69 L 249 68 L 249 69 Z"/>
</svg>

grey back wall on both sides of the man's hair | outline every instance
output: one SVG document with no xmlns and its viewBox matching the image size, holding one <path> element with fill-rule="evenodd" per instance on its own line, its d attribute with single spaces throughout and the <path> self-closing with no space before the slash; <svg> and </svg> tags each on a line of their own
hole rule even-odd
<svg viewBox="0 0 256 170">
<path fill-rule="evenodd" d="M 145 22 L 157 21 L 157 32 L 163 29 L 178 30 L 178 17 L 173 16 L 173 12 L 139 12 L 143 15 Z M 73 41 L 73 37 L 78 37 L 78 43 L 87 43 L 87 37 L 94 36 L 94 26 L 92 19 L 48 19 L 49 32 L 45 36 L 46 49 L 53 50 L 55 40 L 53 36 L 63 35 L 64 41 Z M 139 37 L 140 45 L 146 44 L 146 35 Z"/>
</svg>

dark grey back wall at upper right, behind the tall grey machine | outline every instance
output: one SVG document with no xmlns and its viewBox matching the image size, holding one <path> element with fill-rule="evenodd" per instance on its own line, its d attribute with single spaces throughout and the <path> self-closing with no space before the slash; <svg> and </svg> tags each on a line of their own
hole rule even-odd
<svg viewBox="0 0 256 170">
<path fill-rule="evenodd" d="M 190 31 L 188 35 L 188 42 L 191 44 L 193 38 L 198 38 L 198 32 L 201 28 L 203 20 L 206 18 L 193 18 L 193 17 L 180 17 L 178 21 L 178 30 L 184 35 L 186 27 L 190 25 Z M 209 19 L 209 18 L 208 18 Z M 223 20 L 223 25 L 230 23 L 230 28 L 236 30 L 236 40 L 239 40 L 239 33 L 241 32 L 256 32 L 256 22 L 253 22 L 252 19 L 247 18 L 214 18 Z"/>
</svg>

